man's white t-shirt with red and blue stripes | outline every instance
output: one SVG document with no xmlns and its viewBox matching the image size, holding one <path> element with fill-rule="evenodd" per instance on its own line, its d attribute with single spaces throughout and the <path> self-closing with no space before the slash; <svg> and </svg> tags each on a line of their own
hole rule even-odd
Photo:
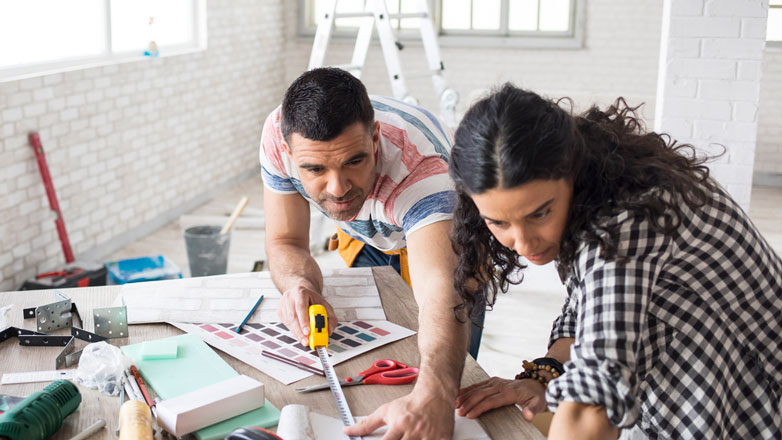
<svg viewBox="0 0 782 440">
<path fill-rule="evenodd" d="M 370 99 L 380 123 L 375 184 L 356 217 L 336 223 L 351 237 L 390 251 L 406 247 L 407 234 L 418 228 L 451 219 L 456 201 L 448 177 L 453 133 L 421 107 L 381 96 Z M 279 194 L 298 192 L 323 212 L 301 185 L 282 142 L 277 107 L 266 118 L 261 138 L 264 185 Z"/>
</svg>

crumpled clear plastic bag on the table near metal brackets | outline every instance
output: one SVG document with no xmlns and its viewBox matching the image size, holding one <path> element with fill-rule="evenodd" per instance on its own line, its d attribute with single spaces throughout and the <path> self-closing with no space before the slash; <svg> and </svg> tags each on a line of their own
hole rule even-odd
<svg viewBox="0 0 782 440">
<path fill-rule="evenodd" d="M 106 341 L 95 342 L 84 347 L 74 379 L 87 388 L 116 396 L 128 367 L 130 362 L 119 348 Z"/>
</svg>

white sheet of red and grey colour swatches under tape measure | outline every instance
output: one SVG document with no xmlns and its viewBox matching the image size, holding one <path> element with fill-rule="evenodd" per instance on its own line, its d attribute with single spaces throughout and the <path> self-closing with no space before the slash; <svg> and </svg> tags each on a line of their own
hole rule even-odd
<svg viewBox="0 0 782 440">
<path fill-rule="evenodd" d="M 273 352 L 320 369 L 318 355 L 299 344 L 282 323 L 246 324 L 236 333 L 236 324 L 186 324 L 171 325 L 196 335 L 207 344 L 263 371 L 288 385 L 309 377 L 312 373 L 262 356 L 263 350 Z M 415 332 L 388 321 L 340 322 L 329 338 L 329 355 L 334 364 L 346 361 L 373 348 L 398 341 Z"/>
</svg>

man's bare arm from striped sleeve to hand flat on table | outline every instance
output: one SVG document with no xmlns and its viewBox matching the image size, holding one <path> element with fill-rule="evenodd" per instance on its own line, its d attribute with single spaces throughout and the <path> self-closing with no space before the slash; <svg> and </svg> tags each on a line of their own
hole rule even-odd
<svg viewBox="0 0 782 440">
<path fill-rule="evenodd" d="M 381 406 L 345 433 L 361 436 L 387 425 L 384 440 L 450 439 L 469 327 L 454 316 L 456 257 L 450 221 L 424 226 L 407 237 L 413 295 L 418 304 L 420 371 L 407 396 Z M 447 348 L 446 348 L 447 347 Z"/>
</svg>

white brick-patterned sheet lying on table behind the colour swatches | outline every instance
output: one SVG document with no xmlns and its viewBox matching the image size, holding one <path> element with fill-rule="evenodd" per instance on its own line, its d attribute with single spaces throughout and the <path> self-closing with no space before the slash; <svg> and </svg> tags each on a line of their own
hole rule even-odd
<svg viewBox="0 0 782 440">
<path fill-rule="evenodd" d="M 238 323 L 261 295 L 248 322 L 279 321 L 282 295 L 268 271 L 124 284 L 114 305 L 127 307 L 128 324 Z M 371 268 L 324 270 L 323 296 L 341 321 L 386 319 Z"/>
</svg>

